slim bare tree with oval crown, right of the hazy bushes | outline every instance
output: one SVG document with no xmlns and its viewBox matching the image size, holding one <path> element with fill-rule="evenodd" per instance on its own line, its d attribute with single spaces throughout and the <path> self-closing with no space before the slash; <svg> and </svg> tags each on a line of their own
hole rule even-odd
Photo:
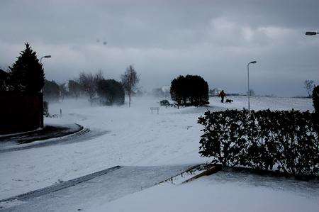
<svg viewBox="0 0 319 212">
<path fill-rule="evenodd" d="M 135 71 L 133 65 L 130 65 L 126 68 L 126 71 L 121 76 L 121 81 L 126 93 L 128 94 L 128 106 L 130 107 L 130 101 L 132 99 L 133 91 L 140 81 L 140 77 Z"/>
</svg>

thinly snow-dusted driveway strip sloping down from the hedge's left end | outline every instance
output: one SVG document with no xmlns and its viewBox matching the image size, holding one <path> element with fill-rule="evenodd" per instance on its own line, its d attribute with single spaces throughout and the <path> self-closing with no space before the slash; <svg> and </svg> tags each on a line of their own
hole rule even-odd
<svg viewBox="0 0 319 212">
<path fill-rule="evenodd" d="M 0 201 L 0 211 L 85 211 L 173 177 L 191 165 L 111 167 Z"/>
</svg>

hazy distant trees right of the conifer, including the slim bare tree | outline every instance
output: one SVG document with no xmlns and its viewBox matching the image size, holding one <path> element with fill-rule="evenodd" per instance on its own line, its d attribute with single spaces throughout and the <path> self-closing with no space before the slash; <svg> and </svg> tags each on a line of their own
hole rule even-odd
<svg viewBox="0 0 319 212">
<path fill-rule="evenodd" d="M 91 104 L 121 105 L 125 102 L 125 92 L 128 94 L 128 103 L 137 87 L 139 76 L 133 66 L 129 66 L 121 76 L 121 82 L 115 79 L 106 79 L 101 71 L 96 73 L 81 72 L 78 77 L 67 83 L 57 84 L 54 80 L 45 80 L 43 94 L 47 101 L 58 101 L 71 97 L 88 97 Z"/>
</svg>

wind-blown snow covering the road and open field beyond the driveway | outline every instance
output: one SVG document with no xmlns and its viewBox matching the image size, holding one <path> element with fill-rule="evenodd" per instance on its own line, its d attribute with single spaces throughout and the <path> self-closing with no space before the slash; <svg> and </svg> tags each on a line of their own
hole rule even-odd
<svg viewBox="0 0 319 212">
<path fill-rule="evenodd" d="M 230 99 L 234 100 L 233 104 L 221 104 L 217 97 L 212 98 L 210 109 L 247 105 L 245 96 Z M 254 97 L 251 100 L 254 109 L 313 110 L 311 99 Z M 150 106 L 158 106 L 158 101 L 151 97 L 135 98 L 130 108 L 127 104 L 90 106 L 84 99 L 50 104 L 50 113 L 59 113 L 62 108 L 63 117 L 47 118 L 45 123 L 79 123 L 108 133 L 79 143 L 1 153 L 0 199 L 115 165 L 207 162 L 208 158 L 198 155 L 201 125 L 197 123 L 198 116 L 207 108 L 162 107 L 158 115 L 151 114 Z"/>
</svg>

